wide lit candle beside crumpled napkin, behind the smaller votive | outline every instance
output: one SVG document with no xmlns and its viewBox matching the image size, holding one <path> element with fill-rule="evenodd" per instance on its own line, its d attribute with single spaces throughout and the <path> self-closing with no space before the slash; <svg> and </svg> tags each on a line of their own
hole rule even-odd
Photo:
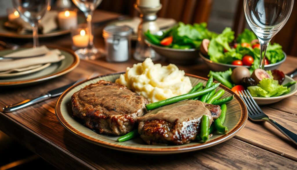
<svg viewBox="0 0 297 170">
<path fill-rule="evenodd" d="M 59 12 L 58 23 L 60 29 L 70 29 L 77 26 L 77 14 L 74 11 Z"/>
</svg>

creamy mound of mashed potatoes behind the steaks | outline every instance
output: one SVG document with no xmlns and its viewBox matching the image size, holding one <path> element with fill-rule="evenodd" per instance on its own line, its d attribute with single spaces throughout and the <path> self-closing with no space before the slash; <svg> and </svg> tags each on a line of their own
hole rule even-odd
<svg viewBox="0 0 297 170">
<path fill-rule="evenodd" d="M 116 82 L 127 86 L 149 102 L 157 102 L 188 93 L 192 88 L 189 77 L 176 65 L 154 64 L 150 58 L 127 68 Z"/>
</svg>

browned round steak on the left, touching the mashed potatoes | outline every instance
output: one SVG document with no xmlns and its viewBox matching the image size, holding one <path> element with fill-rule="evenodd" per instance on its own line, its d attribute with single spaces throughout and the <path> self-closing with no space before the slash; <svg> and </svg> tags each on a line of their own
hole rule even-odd
<svg viewBox="0 0 297 170">
<path fill-rule="evenodd" d="M 100 80 L 72 96 L 73 115 L 100 133 L 124 135 L 146 113 L 148 101 L 126 86 Z"/>
</svg>

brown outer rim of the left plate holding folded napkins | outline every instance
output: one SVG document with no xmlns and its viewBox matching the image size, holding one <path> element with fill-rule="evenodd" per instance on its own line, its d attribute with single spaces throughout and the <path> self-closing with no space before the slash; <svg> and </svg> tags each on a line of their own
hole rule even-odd
<svg viewBox="0 0 297 170">
<path fill-rule="evenodd" d="M 69 65 L 69 67 L 57 72 L 57 73 L 53 73 L 53 74 L 49 74 L 46 76 L 42 76 L 39 78 L 35 78 L 35 79 L 28 79 L 28 80 L 21 80 L 21 81 L 15 81 L 15 82 L 0 82 L 0 86 L 11 86 L 11 85 L 24 85 L 24 84 L 29 84 L 29 83 L 34 83 L 34 82 L 40 82 L 40 81 L 44 81 L 44 80 L 48 80 L 48 79 L 52 79 L 55 77 L 59 77 L 63 74 L 66 74 L 70 71 L 72 71 L 74 68 L 76 68 L 80 62 L 80 59 L 78 57 L 77 54 L 75 54 L 72 50 L 70 49 L 66 49 L 66 48 L 62 48 L 62 47 L 57 47 L 57 46 L 47 46 L 48 48 L 54 48 L 54 49 L 60 49 L 66 52 L 69 52 L 70 54 L 72 54 L 73 56 L 73 63 L 71 65 Z"/>
</svg>

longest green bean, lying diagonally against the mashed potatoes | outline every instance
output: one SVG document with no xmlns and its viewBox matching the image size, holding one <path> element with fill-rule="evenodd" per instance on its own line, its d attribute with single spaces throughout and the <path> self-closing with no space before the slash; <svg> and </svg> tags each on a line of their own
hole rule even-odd
<svg viewBox="0 0 297 170">
<path fill-rule="evenodd" d="M 154 103 L 148 104 L 148 105 L 146 105 L 146 109 L 153 110 L 155 108 L 162 107 L 165 105 L 170 105 L 172 103 L 180 102 L 182 100 L 193 99 L 194 97 L 204 95 L 204 94 L 216 89 L 220 84 L 221 83 L 216 83 L 215 85 L 213 85 L 209 88 L 205 88 L 201 91 L 195 91 L 192 93 L 182 94 L 179 96 L 171 97 L 169 99 L 161 100 L 159 102 L 154 102 Z"/>
</svg>

